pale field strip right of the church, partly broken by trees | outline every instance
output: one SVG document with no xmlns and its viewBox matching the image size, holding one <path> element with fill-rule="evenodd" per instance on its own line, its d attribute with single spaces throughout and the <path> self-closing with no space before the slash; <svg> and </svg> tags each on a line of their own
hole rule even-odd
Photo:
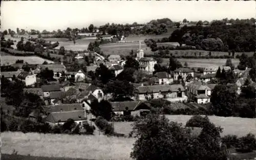
<svg viewBox="0 0 256 160">
<path fill-rule="evenodd" d="M 169 59 L 163 58 L 162 64 L 169 64 Z M 223 66 L 226 63 L 226 59 L 185 59 L 178 58 L 178 61 L 182 65 L 187 62 L 188 67 L 214 67 L 214 66 Z M 239 59 L 231 59 L 234 66 L 239 64 Z"/>
</svg>

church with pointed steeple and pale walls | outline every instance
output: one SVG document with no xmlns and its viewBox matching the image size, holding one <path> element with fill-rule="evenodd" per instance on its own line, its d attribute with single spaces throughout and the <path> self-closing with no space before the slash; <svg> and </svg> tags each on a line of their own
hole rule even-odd
<svg viewBox="0 0 256 160">
<path fill-rule="evenodd" d="M 154 66 L 155 64 L 157 64 L 157 61 L 154 58 L 144 57 L 143 49 L 141 49 L 141 42 L 139 41 L 139 43 L 140 47 L 137 51 L 136 57 L 136 60 L 140 64 L 139 70 L 145 71 L 148 74 L 153 74 L 153 72 L 155 71 Z"/>
</svg>

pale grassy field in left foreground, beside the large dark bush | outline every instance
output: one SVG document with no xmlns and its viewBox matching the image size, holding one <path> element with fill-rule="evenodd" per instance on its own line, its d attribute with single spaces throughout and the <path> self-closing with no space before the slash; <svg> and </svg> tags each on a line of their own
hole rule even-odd
<svg viewBox="0 0 256 160">
<path fill-rule="evenodd" d="M 2 153 L 88 159 L 132 159 L 135 139 L 95 136 L 3 132 Z"/>
</svg>

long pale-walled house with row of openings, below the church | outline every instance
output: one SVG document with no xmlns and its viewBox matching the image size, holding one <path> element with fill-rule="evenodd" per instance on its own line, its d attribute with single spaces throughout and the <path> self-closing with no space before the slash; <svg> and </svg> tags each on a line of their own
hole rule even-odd
<svg viewBox="0 0 256 160">
<path fill-rule="evenodd" d="M 140 86 L 134 91 L 135 99 L 147 100 L 164 98 L 169 101 L 186 101 L 185 89 L 182 85 Z"/>
</svg>

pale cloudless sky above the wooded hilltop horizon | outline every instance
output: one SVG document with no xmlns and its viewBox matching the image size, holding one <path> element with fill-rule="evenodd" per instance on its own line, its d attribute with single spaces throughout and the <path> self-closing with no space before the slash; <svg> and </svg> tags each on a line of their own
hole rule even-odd
<svg viewBox="0 0 256 160">
<path fill-rule="evenodd" d="M 250 19 L 255 1 L 2 1 L 1 30 L 57 31 L 105 23 Z"/>
</svg>

